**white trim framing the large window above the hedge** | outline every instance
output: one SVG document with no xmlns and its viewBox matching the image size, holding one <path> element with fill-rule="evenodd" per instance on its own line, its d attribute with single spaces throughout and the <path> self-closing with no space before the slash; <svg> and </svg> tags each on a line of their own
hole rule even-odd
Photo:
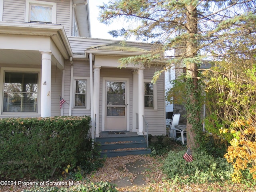
<svg viewBox="0 0 256 192">
<path fill-rule="evenodd" d="M 3 98 L 4 98 L 4 73 L 5 72 L 25 72 L 25 73 L 29 73 L 29 72 L 35 72 L 38 73 L 38 98 L 37 98 L 37 112 L 3 112 Z M 0 91 L 2 92 L 2 94 L 0 94 L 0 113 L 1 116 L 6 116 L 6 117 L 10 117 L 10 116 L 22 116 L 22 115 L 26 115 L 26 116 L 38 116 L 41 113 L 41 69 L 39 68 L 28 68 L 28 69 L 24 69 L 24 68 L 10 68 L 10 67 L 2 67 L 1 68 L 1 72 L 0 72 L 0 81 L 2 83 L 0 83 Z"/>
</svg>

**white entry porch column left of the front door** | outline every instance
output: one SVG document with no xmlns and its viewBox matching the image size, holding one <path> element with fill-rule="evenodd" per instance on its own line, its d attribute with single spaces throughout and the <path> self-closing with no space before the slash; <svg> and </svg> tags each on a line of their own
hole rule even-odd
<svg viewBox="0 0 256 192">
<path fill-rule="evenodd" d="M 94 110 L 94 116 L 96 114 L 96 130 L 95 130 L 95 136 L 100 136 L 100 68 L 99 66 L 94 66 L 94 82 L 93 82 L 93 110 Z"/>
</svg>

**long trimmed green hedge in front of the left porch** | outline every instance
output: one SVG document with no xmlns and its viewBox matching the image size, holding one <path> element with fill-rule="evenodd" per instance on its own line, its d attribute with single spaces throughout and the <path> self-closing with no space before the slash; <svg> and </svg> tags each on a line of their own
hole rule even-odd
<svg viewBox="0 0 256 192">
<path fill-rule="evenodd" d="M 92 158 L 89 129 L 88 116 L 0 119 L 0 177 L 46 179 L 78 166 Z"/>
</svg>

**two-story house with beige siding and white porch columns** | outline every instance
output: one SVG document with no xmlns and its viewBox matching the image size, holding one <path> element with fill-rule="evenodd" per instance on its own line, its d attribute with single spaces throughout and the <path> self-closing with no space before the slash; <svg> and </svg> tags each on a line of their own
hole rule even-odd
<svg viewBox="0 0 256 192">
<path fill-rule="evenodd" d="M 118 68 L 152 45 L 90 33 L 87 0 L 0 0 L 0 118 L 88 115 L 96 137 L 143 134 L 145 118 L 149 134 L 166 134 L 164 76 L 151 83 L 160 67 Z"/>
</svg>

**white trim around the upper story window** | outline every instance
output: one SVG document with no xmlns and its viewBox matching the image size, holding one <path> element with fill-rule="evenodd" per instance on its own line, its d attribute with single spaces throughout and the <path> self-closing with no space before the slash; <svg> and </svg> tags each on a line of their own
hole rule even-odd
<svg viewBox="0 0 256 192">
<path fill-rule="evenodd" d="M 57 4 L 56 3 L 46 2 L 46 1 L 38 1 L 38 0 L 26 0 L 25 22 L 30 22 L 30 20 L 29 20 L 30 5 L 52 7 L 52 24 L 56 24 L 56 16 L 57 16 Z"/>
</svg>

